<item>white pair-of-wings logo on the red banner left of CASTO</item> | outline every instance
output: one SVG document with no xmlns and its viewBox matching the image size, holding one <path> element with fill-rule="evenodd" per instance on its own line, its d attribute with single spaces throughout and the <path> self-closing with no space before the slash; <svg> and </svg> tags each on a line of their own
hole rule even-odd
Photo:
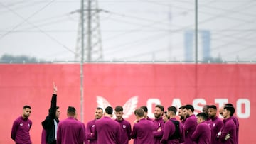
<svg viewBox="0 0 256 144">
<path fill-rule="evenodd" d="M 111 106 L 110 103 L 103 98 L 102 96 L 97 96 L 97 106 L 105 109 L 107 106 Z M 129 118 L 129 116 L 132 115 L 132 113 L 134 113 L 134 110 L 137 107 L 137 103 L 138 103 L 138 96 L 133 96 L 132 98 L 130 98 L 123 107 L 124 109 L 124 115 L 123 118 Z M 115 116 L 113 116 L 113 118 L 116 118 Z"/>
</svg>

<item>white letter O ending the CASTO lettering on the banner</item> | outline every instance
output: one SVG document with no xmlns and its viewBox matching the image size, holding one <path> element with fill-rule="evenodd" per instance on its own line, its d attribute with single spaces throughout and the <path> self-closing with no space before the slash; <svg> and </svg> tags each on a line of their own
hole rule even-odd
<svg viewBox="0 0 256 144">
<path fill-rule="evenodd" d="M 242 113 L 242 105 L 245 105 L 245 113 Z M 250 100 L 249 99 L 238 99 L 237 101 L 237 116 L 239 118 L 250 117 Z"/>
</svg>

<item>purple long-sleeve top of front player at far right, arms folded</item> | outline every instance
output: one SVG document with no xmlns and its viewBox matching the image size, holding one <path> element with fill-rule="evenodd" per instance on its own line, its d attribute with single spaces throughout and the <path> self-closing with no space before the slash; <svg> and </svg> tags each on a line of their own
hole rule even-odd
<svg viewBox="0 0 256 144">
<path fill-rule="evenodd" d="M 219 140 L 222 143 L 225 144 L 236 144 L 236 126 L 235 123 L 232 119 L 232 117 L 224 119 L 223 120 L 223 128 L 221 130 L 221 135 L 219 136 Z M 230 138 L 228 138 L 228 140 L 225 140 L 225 136 L 227 134 L 230 134 Z"/>
</svg>

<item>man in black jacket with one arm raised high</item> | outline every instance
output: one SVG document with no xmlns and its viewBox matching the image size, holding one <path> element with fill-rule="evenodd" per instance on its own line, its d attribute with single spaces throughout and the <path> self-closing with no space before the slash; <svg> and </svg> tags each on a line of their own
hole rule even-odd
<svg viewBox="0 0 256 144">
<path fill-rule="evenodd" d="M 57 129 L 60 116 L 60 109 L 57 106 L 57 87 L 53 83 L 53 96 L 51 99 L 50 110 L 46 119 L 42 121 L 43 129 L 46 131 L 46 141 L 47 144 L 55 144 L 57 139 Z M 42 138 L 43 143 L 43 138 Z"/>
</svg>

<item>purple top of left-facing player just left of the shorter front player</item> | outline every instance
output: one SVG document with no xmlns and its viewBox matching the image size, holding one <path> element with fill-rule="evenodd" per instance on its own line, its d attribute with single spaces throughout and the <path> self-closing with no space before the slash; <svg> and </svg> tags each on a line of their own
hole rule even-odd
<svg viewBox="0 0 256 144">
<path fill-rule="evenodd" d="M 192 134 L 196 130 L 197 118 L 194 114 L 186 118 L 185 123 L 183 123 L 183 129 L 185 132 L 185 143 L 193 144 Z"/>
</svg>

